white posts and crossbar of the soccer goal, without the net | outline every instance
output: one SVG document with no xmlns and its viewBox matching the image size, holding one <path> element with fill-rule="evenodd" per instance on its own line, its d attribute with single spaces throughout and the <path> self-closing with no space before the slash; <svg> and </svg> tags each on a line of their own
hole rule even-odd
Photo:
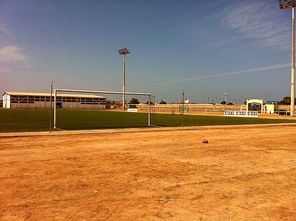
<svg viewBox="0 0 296 221">
<path fill-rule="evenodd" d="M 54 90 L 54 128 L 59 129 L 56 127 L 56 109 L 57 109 L 57 92 L 72 92 L 72 93 L 98 93 L 98 94 L 113 94 L 113 95 L 146 95 L 148 96 L 148 126 L 153 126 L 150 124 L 150 101 L 151 101 L 151 94 L 146 93 L 128 93 L 128 92 L 103 92 L 103 91 L 83 91 L 83 90 L 64 90 L 64 89 L 55 89 Z M 125 105 L 125 104 L 122 104 Z"/>
</svg>

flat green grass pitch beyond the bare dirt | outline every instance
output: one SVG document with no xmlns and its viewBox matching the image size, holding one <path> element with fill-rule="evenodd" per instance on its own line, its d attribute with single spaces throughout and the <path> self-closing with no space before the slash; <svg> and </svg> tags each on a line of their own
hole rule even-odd
<svg viewBox="0 0 296 221">
<path fill-rule="evenodd" d="M 57 127 L 63 129 L 104 129 L 148 127 L 147 113 L 112 111 L 62 110 L 57 114 Z M 182 115 L 151 114 L 151 125 L 182 126 Z M 253 125 L 296 123 L 291 119 L 243 118 L 184 115 L 184 126 Z M 53 125 L 53 124 L 52 124 Z M 0 132 L 49 131 L 50 110 L 0 110 Z"/>
</svg>

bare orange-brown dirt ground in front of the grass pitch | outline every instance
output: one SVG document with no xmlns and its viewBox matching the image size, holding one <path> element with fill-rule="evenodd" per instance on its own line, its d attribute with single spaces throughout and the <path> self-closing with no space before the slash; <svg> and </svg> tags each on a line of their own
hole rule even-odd
<svg viewBox="0 0 296 221">
<path fill-rule="evenodd" d="M 296 126 L 1 134 L 0 220 L 296 221 Z"/>
</svg>

